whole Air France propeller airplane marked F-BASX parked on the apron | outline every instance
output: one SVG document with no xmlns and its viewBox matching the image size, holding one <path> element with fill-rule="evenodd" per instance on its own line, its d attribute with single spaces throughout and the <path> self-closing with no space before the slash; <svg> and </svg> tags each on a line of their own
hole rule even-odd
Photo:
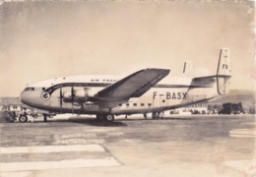
<svg viewBox="0 0 256 177">
<path fill-rule="evenodd" d="M 21 101 L 50 114 L 91 114 L 97 120 L 114 121 L 114 116 L 160 112 L 207 101 L 228 92 L 229 50 L 222 48 L 217 73 L 191 76 L 193 67 L 186 62 L 186 77 L 166 77 L 169 69 L 150 68 L 128 77 L 87 75 L 55 78 L 32 84 L 21 93 Z M 26 115 L 20 122 L 27 122 Z"/>
</svg>

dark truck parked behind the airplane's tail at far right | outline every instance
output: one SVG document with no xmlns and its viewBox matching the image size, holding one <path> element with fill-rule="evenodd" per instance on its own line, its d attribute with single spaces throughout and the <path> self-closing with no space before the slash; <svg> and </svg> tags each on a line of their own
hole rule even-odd
<svg viewBox="0 0 256 177">
<path fill-rule="evenodd" d="M 242 103 L 231 103 L 227 102 L 223 104 L 223 109 L 219 112 L 219 114 L 240 114 L 245 113 L 242 107 Z"/>
</svg>

